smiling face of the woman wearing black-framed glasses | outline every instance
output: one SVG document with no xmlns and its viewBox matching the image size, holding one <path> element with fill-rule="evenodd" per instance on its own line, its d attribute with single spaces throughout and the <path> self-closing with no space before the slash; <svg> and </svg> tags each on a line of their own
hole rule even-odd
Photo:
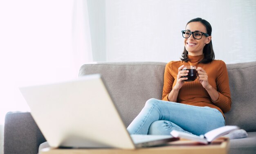
<svg viewBox="0 0 256 154">
<path fill-rule="evenodd" d="M 190 22 L 186 25 L 186 31 L 200 31 L 203 33 L 207 33 L 205 26 L 201 22 Z M 186 51 L 189 52 L 189 55 L 197 56 L 203 54 L 203 49 L 206 44 L 211 41 L 211 36 L 206 37 L 202 35 L 200 40 L 196 40 L 191 34 L 189 38 L 184 39 L 184 45 Z"/>
</svg>

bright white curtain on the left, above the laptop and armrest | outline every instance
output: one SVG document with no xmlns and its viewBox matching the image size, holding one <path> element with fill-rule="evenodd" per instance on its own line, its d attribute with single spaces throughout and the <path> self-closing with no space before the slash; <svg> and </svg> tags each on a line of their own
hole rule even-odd
<svg viewBox="0 0 256 154">
<path fill-rule="evenodd" d="M 0 0 L 0 21 L 1 125 L 29 111 L 18 87 L 78 77 L 92 49 L 86 0 Z"/>
</svg>

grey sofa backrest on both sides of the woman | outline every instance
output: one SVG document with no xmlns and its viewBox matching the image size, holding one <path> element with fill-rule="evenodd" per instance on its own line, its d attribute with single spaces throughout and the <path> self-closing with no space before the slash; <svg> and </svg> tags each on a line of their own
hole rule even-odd
<svg viewBox="0 0 256 154">
<path fill-rule="evenodd" d="M 81 66 L 79 76 L 100 73 L 128 126 L 150 98 L 162 99 L 164 62 L 95 62 Z M 256 62 L 227 64 L 231 111 L 226 125 L 256 131 Z M 99 94 L 100 95 L 100 94 Z"/>
</svg>

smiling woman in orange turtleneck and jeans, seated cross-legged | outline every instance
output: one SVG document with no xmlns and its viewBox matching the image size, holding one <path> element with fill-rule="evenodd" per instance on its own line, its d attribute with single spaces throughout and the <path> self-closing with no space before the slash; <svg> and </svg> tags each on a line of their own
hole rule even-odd
<svg viewBox="0 0 256 154">
<path fill-rule="evenodd" d="M 181 61 L 166 65 L 162 100 L 149 99 L 128 126 L 130 134 L 170 135 L 172 130 L 201 135 L 225 125 L 224 112 L 231 108 L 226 65 L 214 60 L 211 25 L 195 18 L 182 31 L 184 52 Z M 198 78 L 184 81 L 196 66 Z M 176 103 L 177 102 L 177 103 Z"/>
</svg>

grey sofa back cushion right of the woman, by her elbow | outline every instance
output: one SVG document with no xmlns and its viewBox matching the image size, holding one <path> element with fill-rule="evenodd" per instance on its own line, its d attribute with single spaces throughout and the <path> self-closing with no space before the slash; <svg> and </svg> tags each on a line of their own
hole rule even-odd
<svg viewBox="0 0 256 154">
<path fill-rule="evenodd" d="M 231 91 L 231 110 L 225 113 L 226 125 L 256 131 L 256 62 L 227 64 Z"/>
</svg>

